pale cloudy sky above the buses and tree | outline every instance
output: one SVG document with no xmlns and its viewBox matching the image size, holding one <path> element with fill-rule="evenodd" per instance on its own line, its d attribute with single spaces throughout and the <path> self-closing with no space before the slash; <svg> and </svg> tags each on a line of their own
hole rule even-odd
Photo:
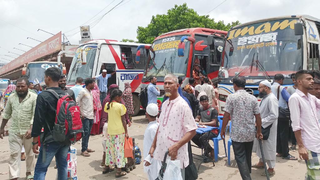
<svg viewBox="0 0 320 180">
<path fill-rule="evenodd" d="M 208 13 L 216 21 L 225 23 L 239 20 L 248 22 L 262 18 L 308 14 L 320 19 L 319 0 L 124 0 L 116 9 L 105 15 L 96 26 L 91 28 L 93 39 L 135 39 L 138 26 L 147 26 L 152 15 L 164 14 L 174 4 L 187 3 L 198 14 L 204 15 L 222 3 L 219 7 Z M 27 51 L 30 48 L 19 43 L 36 46 L 39 42 L 27 39 L 31 37 L 40 41 L 52 35 L 38 31 L 56 34 L 65 33 L 71 44 L 78 44 L 80 25 L 89 25 L 96 18 L 108 12 L 121 0 L 94 0 L 94 1 L 66 1 L 66 0 L 0 0 L 0 58 L 12 60 L 4 56 L 22 54 L 19 48 Z M 110 4 L 111 3 L 111 4 Z M 110 4 L 108 6 L 108 4 Z M 108 6 L 108 7 L 106 7 Z M 105 9 L 104 9 L 105 8 Z M 103 10 L 104 9 L 104 10 Z M 101 11 L 102 10 L 102 11 Z M 101 12 L 100 12 L 101 11 Z M 98 15 L 96 15 L 100 12 Z M 96 15 L 96 16 L 95 16 Z M 90 20 L 91 19 L 91 20 Z M 87 22 L 90 20 L 89 22 Z M 78 33 L 77 33 L 78 32 Z M 73 36 L 71 36 L 73 35 Z M 0 61 L 6 61 L 0 59 Z"/>
</svg>

